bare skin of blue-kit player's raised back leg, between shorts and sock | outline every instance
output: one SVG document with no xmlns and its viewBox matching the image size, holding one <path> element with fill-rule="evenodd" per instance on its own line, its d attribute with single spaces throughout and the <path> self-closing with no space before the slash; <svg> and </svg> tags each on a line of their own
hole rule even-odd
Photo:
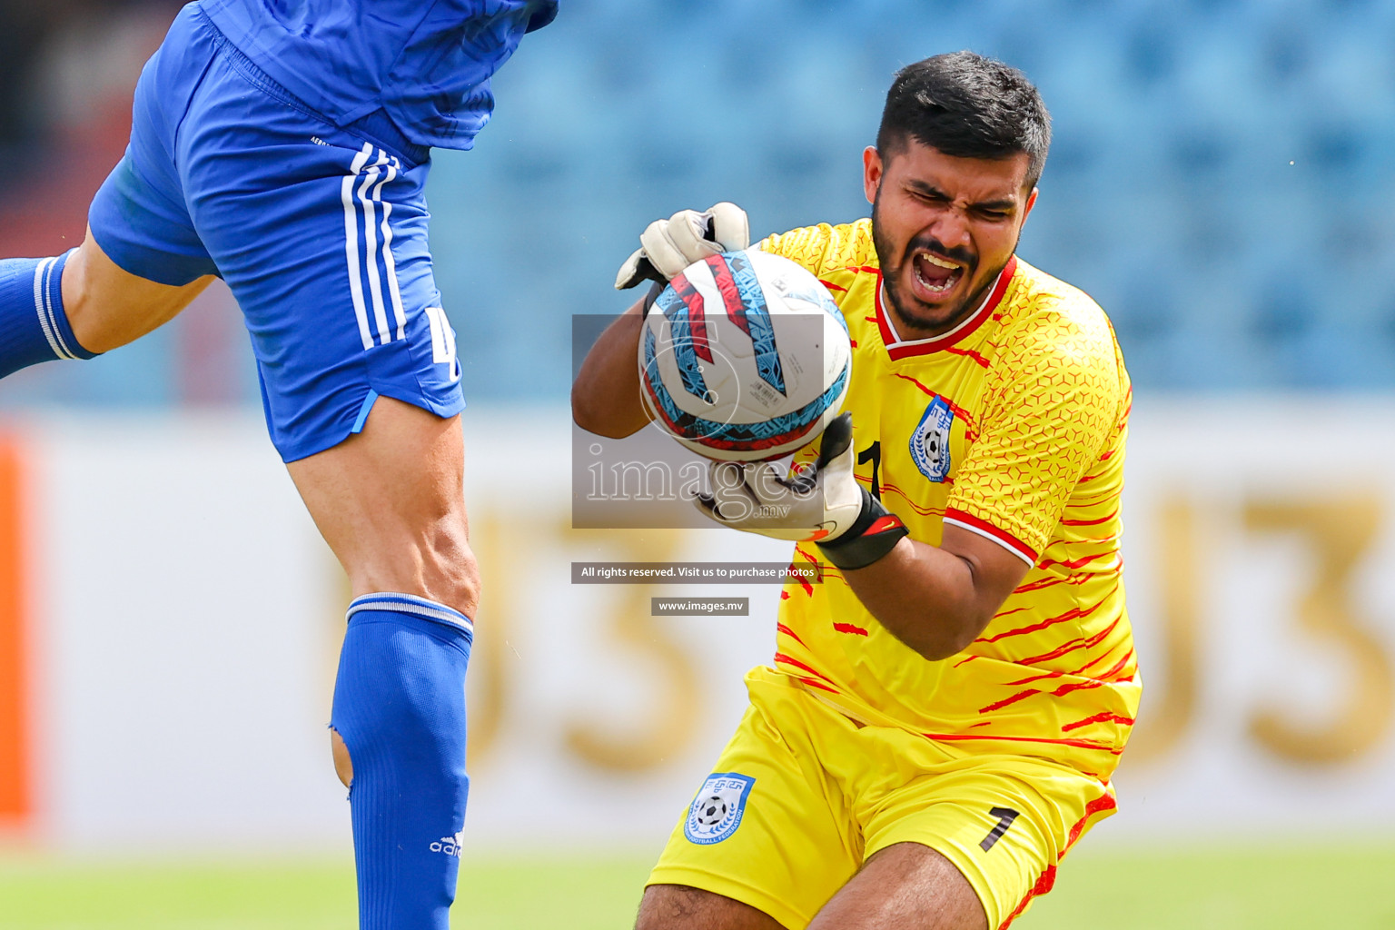
<svg viewBox="0 0 1395 930">
<path fill-rule="evenodd" d="M 212 280 L 176 287 L 133 275 L 107 258 L 88 230 L 63 268 L 63 307 L 78 343 L 103 353 L 174 319 Z"/>
</svg>

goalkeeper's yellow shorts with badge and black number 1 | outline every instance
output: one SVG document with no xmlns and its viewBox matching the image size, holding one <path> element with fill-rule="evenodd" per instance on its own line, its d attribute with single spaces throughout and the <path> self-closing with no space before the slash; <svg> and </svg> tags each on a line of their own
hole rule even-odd
<svg viewBox="0 0 1395 930">
<path fill-rule="evenodd" d="M 1004 927 L 1113 813 L 1109 785 L 1025 756 L 964 756 L 862 726 L 785 675 L 746 675 L 751 707 L 649 876 L 735 898 L 802 930 L 898 842 L 946 856 Z"/>
</svg>

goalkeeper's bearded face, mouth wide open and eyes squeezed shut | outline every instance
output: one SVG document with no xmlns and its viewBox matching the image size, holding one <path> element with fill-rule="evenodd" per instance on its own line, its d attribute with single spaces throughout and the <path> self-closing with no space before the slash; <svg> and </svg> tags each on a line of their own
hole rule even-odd
<svg viewBox="0 0 1395 930">
<path fill-rule="evenodd" d="M 862 155 L 872 238 L 903 337 L 949 332 L 972 314 L 1017 248 L 1036 202 L 1030 158 L 954 158 L 905 139 Z"/>
</svg>

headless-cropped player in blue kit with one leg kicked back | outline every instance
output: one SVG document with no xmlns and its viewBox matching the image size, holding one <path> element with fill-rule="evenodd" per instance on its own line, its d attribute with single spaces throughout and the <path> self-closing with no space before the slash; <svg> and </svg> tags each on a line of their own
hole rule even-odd
<svg viewBox="0 0 1395 930">
<path fill-rule="evenodd" d="M 82 245 L 0 261 L 0 376 L 91 358 L 212 280 L 247 321 L 272 442 L 353 586 L 331 714 L 365 930 L 445 930 L 478 573 L 460 368 L 427 250 L 430 149 L 557 0 L 201 0 L 135 92 Z M 193 657 L 191 657 L 193 658 Z"/>
</svg>

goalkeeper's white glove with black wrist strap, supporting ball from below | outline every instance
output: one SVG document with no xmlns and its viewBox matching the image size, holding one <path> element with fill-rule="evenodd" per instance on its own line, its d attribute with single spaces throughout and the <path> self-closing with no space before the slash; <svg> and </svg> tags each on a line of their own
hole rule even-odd
<svg viewBox="0 0 1395 930">
<path fill-rule="evenodd" d="M 769 462 L 713 462 L 711 494 L 693 503 L 707 517 L 776 540 L 812 541 L 840 569 L 872 565 L 907 535 L 900 517 L 852 475 L 852 414 L 823 431 L 819 459 L 791 477 Z"/>
</svg>

